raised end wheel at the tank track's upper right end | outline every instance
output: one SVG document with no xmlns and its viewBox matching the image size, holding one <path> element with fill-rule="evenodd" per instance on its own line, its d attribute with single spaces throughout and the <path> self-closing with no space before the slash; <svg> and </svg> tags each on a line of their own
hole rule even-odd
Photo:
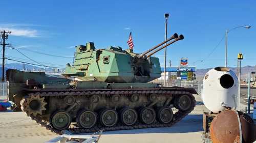
<svg viewBox="0 0 256 143">
<path fill-rule="evenodd" d="M 187 110 L 191 104 L 192 101 L 188 95 L 181 95 L 175 99 L 175 107 L 179 110 Z"/>
</svg>

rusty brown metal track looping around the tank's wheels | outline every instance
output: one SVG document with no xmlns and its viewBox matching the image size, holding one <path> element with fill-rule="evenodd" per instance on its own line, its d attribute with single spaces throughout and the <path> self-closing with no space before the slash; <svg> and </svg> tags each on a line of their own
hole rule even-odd
<svg viewBox="0 0 256 143">
<path fill-rule="evenodd" d="M 184 91 L 172 91 L 168 89 L 161 89 L 161 90 L 112 90 L 112 91 L 70 91 L 70 92 L 36 92 L 36 93 L 30 93 L 30 95 L 40 95 L 42 97 L 44 96 L 67 96 L 67 95 L 94 95 L 94 94 L 151 94 L 151 93 L 156 93 L 156 94 L 178 94 L 178 95 L 188 95 L 192 101 L 191 106 L 189 109 L 182 111 L 178 110 L 176 113 L 174 113 L 174 119 L 172 122 L 163 124 L 158 122 L 157 120 L 153 124 L 143 124 L 141 122 L 136 123 L 135 125 L 132 126 L 124 126 L 121 123 L 118 123 L 117 125 L 113 127 L 102 127 L 102 126 L 94 126 L 93 128 L 90 129 L 83 129 L 79 128 L 77 126 L 72 125 L 66 129 L 67 131 L 71 133 L 90 133 L 90 132 L 96 132 L 99 130 L 103 131 L 115 131 L 115 130 L 130 130 L 130 129 L 142 129 L 142 128 L 158 128 L 158 127 L 170 127 L 173 126 L 174 124 L 178 123 L 181 121 L 185 116 L 187 116 L 192 110 L 194 110 L 194 107 L 196 106 L 196 100 L 193 94 L 189 92 L 184 92 Z M 32 120 L 36 121 L 38 124 L 40 124 L 42 127 L 46 127 L 46 129 L 51 130 L 52 132 L 55 132 L 57 134 L 63 134 L 63 132 L 54 129 L 48 121 L 44 121 L 40 118 L 36 118 L 33 115 L 30 115 Z"/>
</svg>

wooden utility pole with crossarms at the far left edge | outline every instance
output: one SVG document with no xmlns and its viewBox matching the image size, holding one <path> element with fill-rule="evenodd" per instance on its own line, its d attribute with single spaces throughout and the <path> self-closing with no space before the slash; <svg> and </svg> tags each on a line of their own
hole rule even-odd
<svg viewBox="0 0 256 143">
<path fill-rule="evenodd" d="M 8 39 L 8 34 L 11 34 L 11 32 L 10 31 L 6 32 L 5 30 L 1 31 L 1 36 L 3 39 L 3 44 L 1 43 L 1 45 L 3 45 L 2 82 L 5 81 L 5 46 L 11 45 L 11 44 L 5 43 L 5 40 Z"/>
</svg>

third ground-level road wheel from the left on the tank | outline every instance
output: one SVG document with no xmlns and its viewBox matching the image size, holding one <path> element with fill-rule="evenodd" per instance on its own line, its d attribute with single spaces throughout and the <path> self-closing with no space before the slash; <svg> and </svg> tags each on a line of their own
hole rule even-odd
<svg viewBox="0 0 256 143">
<path fill-rule="evenodd" d="M 114 126 L 118 121 L 118 113 L 114 109 L 103 109 L 100 112 L 100 123 L 103 126 L 111 127 Z"/>
</svg>

